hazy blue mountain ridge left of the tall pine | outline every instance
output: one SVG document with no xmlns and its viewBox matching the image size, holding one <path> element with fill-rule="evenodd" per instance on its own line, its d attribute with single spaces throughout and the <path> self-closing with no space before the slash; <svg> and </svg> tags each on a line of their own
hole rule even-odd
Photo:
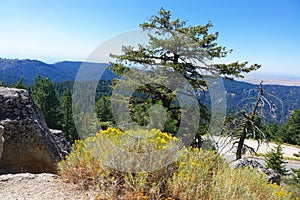
<svg viewBox="0 0 300 200">
<path fill-rule="evenodd" d="M 85 62 L 63 61 L 47 64 L 38 60 L 0 58 L 0 81 L 12 85 L 23 77 L 24 84 L 31 85 L 38 75 L 49 77 L 53 82 L 74 81 L 80 66 L 84 63 Z M 107 66 L 107 63 L 89 64 L 99 68 Z M 106 70 L 102 76 L 103 79 L 108 80 L 115 77 L 116 75 L 110 70 Z"/>
</svg>

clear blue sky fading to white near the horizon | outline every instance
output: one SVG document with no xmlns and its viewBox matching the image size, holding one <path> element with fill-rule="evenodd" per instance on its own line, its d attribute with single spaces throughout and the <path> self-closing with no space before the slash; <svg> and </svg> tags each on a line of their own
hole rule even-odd
<svg viewBox="0 0 300 200">
<path fill-rule="evenodd" d="M 300 77 L 298 0 L 0 0 L 0 57 L 48 63 L 85 60 L 102 42 L 138 28 L 160 7 L 191 25 L 212 21 L 224 62 Z"/>
</svg>

